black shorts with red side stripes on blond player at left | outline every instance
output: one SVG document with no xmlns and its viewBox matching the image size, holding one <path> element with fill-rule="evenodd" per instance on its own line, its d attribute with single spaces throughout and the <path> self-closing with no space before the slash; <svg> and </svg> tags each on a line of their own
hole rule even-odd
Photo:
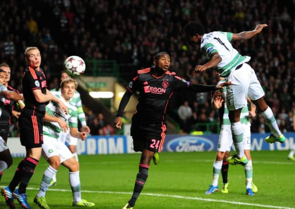
<svg viewBox="0 0 295 209">
<path fill-rule="evenodd" d="M 19 118 L 21 144 L 26 149 L 41 147 L 43 144 L 43 117 L 26 116 Z"/>
</svg>

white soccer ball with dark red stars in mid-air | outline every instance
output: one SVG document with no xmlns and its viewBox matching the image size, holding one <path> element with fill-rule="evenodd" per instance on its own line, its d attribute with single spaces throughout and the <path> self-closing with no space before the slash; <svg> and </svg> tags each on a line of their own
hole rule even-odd
<svg viewBox="0 0 295 209">
<path fill-rule="evenodd" d="M 77 77 L 84 73 L 85 62 L 81 57 L 70 56 L 64 61 L 64 70 L 71 77 Z"/>
</svg>

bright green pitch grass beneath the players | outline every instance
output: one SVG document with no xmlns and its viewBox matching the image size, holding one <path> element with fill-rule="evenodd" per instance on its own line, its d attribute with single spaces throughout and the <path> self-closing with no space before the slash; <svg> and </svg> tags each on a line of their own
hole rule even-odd
<svg viewBox="0 0 295 209">
<path fill-rule="evenodd" d="M 205 195 L 212 182 L 215 152 L 161 153 L 160 164 L 150 165 L 147 183 L 134 208 L 293 208 L 295 162 L 288 161 L 287 155 L 288 151 L 252 152 L 253 179 L 258 186 L 258 193 L 250 197 L 245 194 L 245 174 L 241 165 L 229 167 L 228 194 L 219 191 Z M 79 156 L 82 197 L 94 202 L 95 209 L 122 209 L 133 191 L 139 158 L 140 154 Z M 12 167 L 4 172 L 1 186 L 9 184 L 20 160 L 15 158 Z M 32 209 L 38 208 L 33 199 L 47 166 L 42 159 L 28 186 L 28 203 Z M 72 208 L 73 198 L 68 179 L 68 171 L 61 166 L 57 173 L 57 184 L 52 187 L 54 191 L 49 190 L 46 196 L 51 209 Z M 221 176 L 219 182 L 221 189 Z M 16 205 L 20 208 L 17 202 Z M 3 197 L 0 199 L 0 208 L 7 208 Z"/>
</svg>

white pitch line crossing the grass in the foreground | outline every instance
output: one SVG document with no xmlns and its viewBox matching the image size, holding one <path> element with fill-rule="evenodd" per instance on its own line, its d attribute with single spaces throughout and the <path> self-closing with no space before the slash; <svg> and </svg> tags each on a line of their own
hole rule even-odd
<svg viewBox="0 0 295 209">
<path fill-rule="evenodd" d="M 27 187 L 27 189 L 29 189 L 29 190 L 39 190 L 39 188 L 33 188 L 33 187 Z M 72 190 L 70 190 L 70 189 L 49 188 L 48 190 L 49 191 L 72 192 Z M 90 191 L 90 190 L 82 190 L 81 192 L 100 193 L 100 194 L 132 194 L 132 192 L 123 192 L 123 191 Z M 272 208 L 272 209 L 295 209 L 295 208 L 288 208 L 288 207 L 283 207 L 283 206 L 272 206 L 272 205 L 253 204 L 253 203 L 243 203 L 243 202 L 236 202 L 236 201 L 216 200 L 216 199 L 200 198 L 200 197 L 188 197 L 188 196 L 181 196 L 181 195 L 156 194 L 156 193 L 141 193 L 141 195 L 156 196 L 156 197 L 171 197 L 171 198 L 186 199 L 186 200 L 199 200 L 199 201 L 206 201 L 206 202 L 229 203 L 229 204 L 233 204 L 233 205 L 254 206 L 254 207 L 262 207 L 262 208 Z"/>
</svg>

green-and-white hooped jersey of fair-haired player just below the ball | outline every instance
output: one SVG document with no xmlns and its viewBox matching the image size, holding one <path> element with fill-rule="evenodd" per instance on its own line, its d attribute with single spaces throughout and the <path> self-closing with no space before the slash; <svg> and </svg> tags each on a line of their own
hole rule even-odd
<svg viewBox="0 0 295 209">
<path fill-rule="evenodd" d="M 70 128 L 77 128 L 78 127 L 78 112 L 77 108 L 74 105 L 71 105 L 69 102 L 66 102 L 62 97 L 61 94 L 55 94 L 57 98 L 62 100 L 62 102 L 67 106 L 69 109 L 69 114 L 66 115 L 56 103 L 54 102 L 49 102 L 48 105 L 46 105 L 46 113 L 50 116 L 56 116 L 62 118 L 67 124 L 69 125 Z M 61 132 L 61 128 L 58 125 L 57 122 L 46 122 L 44 121 L 44 126 L 43 126 L 43 134 L 48 135 L 52 138 L 58 138 L 59 133 Z"/>
</svg>

